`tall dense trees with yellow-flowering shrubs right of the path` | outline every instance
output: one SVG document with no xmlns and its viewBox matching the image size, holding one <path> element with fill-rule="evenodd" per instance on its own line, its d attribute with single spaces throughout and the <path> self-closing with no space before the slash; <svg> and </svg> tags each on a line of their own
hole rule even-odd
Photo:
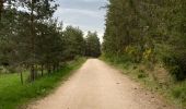
<svg viewBox="0 0 186 109">
<path fill-rule="evenodd" d="M 103 50 L 186 78 L 186 0 L 109 0 Z"/>
</svg>

